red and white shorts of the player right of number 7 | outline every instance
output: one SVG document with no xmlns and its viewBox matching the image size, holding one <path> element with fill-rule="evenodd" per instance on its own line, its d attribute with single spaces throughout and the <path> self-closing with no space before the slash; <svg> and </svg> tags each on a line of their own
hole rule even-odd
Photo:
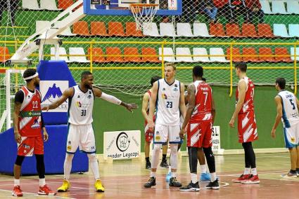
<svg viewBox="0 0 299 199">
<path fill-rule="evenodd" d="M 253 142 L 257 140 L 257 127 L 254 111 L 238 114 L 238 142 Z"/>
</svg>

